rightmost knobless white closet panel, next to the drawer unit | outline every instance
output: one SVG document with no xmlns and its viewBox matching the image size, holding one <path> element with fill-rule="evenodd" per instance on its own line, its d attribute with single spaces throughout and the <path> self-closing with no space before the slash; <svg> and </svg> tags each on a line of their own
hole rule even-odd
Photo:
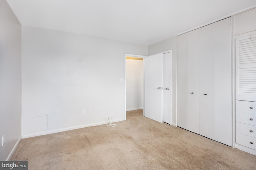
<svg viewBox="0 0 256 170">
<path fill-rule="evenodd" d="M 230 18 L 214 23 L 214 140 L 232 146 Z"/>
</svg>

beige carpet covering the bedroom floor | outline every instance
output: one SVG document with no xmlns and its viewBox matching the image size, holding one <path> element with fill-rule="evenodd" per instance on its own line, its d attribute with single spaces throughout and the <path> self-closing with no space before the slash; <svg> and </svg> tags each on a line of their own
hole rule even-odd
<svg viewBox="0 0 256 170">
<path fill-rule="evenodd" d="M 22 139 L 11 160 L 29 170 L 255 170 L 256 156 L 128 111 L 100 125 Z"/>
</svg>

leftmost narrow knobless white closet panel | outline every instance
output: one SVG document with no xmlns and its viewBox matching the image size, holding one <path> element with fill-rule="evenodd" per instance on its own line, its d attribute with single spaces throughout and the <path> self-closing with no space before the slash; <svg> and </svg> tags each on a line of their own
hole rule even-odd
<svg viewBox="0 0 256 170">
<path fill-rule="evenodd" d="M 187 129 L 187 34 L 177 37 L 178 127 Z"/>
</svg>

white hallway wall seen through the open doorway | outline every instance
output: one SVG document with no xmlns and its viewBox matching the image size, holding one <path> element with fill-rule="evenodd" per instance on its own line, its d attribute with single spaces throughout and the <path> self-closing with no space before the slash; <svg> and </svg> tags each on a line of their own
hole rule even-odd
<svg viewBox="0 0 256 170">
<path fill-rule="evenodd" d="M 126 111 L 143 109 L 143 60 L 126 59 Z"/>
</svg>

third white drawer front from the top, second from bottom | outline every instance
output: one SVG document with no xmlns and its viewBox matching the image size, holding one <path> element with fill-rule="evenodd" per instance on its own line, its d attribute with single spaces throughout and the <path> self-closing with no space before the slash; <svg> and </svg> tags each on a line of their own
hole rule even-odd
<svg viewBox="0 0 256 170">
<path fill-rule="evenodd" d="M 256 138 L 256 126 L 236 122 L 236 132 Z"/>
</svg>

